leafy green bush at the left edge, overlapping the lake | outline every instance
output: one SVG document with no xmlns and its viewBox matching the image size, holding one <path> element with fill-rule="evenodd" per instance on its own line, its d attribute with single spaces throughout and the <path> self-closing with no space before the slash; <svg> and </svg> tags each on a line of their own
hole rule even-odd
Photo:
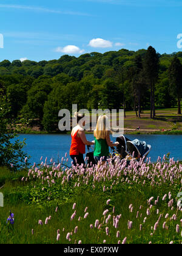
<svg viewBox="0 0 182 256">
<path fill-rule="evenodd" d="M 3 90 L 0 90 L 0 166 L 18 171 L 26 166 L 27 155 L 22 151 L 25 141 L 16 140 L 16 126 L 10 116 L 10 104 Z"/>
</svg>

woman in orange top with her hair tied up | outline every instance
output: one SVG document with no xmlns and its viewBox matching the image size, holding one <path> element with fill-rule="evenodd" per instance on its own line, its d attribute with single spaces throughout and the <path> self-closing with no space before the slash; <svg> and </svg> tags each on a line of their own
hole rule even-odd
<svg viewBox="0 0 182 256">
<path fill-rule="evenodd" d="M 83 126 L 85 126 L 85 121 L 83 124 L 80 124 L 83 114 L 75 113 L 74 117 L 77 119 L 77 126 L 72 129 L 72 144 L 70 148 L 70 157 L 73 160 L 73 165 L 76 164 L 85 165 L 83 154 L 86 153 L 86 145 L 94 145 L 94 141 L 87 141 L 86 134 L 84 132 Z"/>
</svg>

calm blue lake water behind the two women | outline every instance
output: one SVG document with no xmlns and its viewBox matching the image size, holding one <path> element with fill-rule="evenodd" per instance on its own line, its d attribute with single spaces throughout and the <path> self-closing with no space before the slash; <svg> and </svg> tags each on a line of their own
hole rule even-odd
<svg viewBox="0 0 182 256">
<path fill-rule="evenodd" d="M 87 134 L 87 139 L 92 141 L 93 135 Z M 163 157 L 164 154 L 170 152 L 170 157 L 175 160 L 182 160 L 182 135 L 127 135 L 127 138 L 134 140 L 146 141 L 152 146 L 149 153 L 152 161 L 157 161 L 158 156 Z M 27 146 L 24 151 L 31 155 L 31 163 L 39 163 L 41 156 L 42 161 L 45 157 L 50 160 L 53 158 L 55 162 L 67 154 L 69 155 L 71 136 L 70 135 L 19 135 L 19 139 L 26 138 Z M 115 138 L 113 138 L 115 141 Z M 69 158 L 69 162 L 71 159 Z"/>
</svg>

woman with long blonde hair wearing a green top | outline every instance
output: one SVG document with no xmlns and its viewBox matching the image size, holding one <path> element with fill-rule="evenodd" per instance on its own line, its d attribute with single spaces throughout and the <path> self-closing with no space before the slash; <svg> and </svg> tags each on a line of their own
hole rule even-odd
<svg viewBox="0 0 182 256">
<path fill-rule="evenodd" d="M 93 152 L 95 162 L 98 163 L 102 158 L 104 164 L 109 156 L 109 147 L 114 147 L 119 144 L 118 142 L 113 143 L 110 141 L 109 121 L 106 115 L 99 116 L 93 135 L 95 138 L 95 148 Z"/>
</svg>

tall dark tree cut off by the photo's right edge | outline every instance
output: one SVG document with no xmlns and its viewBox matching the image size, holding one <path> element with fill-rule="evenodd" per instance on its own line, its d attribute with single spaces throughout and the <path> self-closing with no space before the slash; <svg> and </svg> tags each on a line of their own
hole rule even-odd
<svg viewBox="0 0 182 256">
<path fill-rule="evenodd" d="M 181 114 L 182 97 L 182 65 L 177 56 L 174 57 L 169 66 L 170 92 L 178 99 L 178 114 Z"/>
</svg>

